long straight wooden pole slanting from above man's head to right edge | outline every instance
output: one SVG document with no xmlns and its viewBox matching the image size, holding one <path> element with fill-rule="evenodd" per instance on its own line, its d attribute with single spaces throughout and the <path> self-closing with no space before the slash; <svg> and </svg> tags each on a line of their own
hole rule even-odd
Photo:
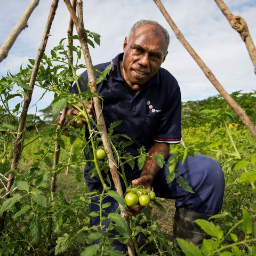
<svg viewBox="0 0 256 256">
<path fill-rule="evenodd" d="M 163 6 L 163 4 L 161 3 L 161 1 L 160 0 L 153 0 L 153 1 L 155 2 L 157 7 L 159 8 L 159 10 L 162 12 L 166 21 L 169 23 L 169 25 L 172 28 L 175 36 L 178 38 L 178 40 L 181 42 L 181 44 L 186 48 L 186 50 L 189 52 L 191 57 L 196 61 L 197 65 L 203 70 L 205 76 L 210 80 L 210 82 L 217 89 L 217 91 L 227 101 L 228 105 L 235 111 L 235 113 L 238 115 L 238 117 L 244 123 L 246 128 L 252 134 L 252 137 L 254 139 L 256 139 L 256 129 L 255 129 L 252 121 L 250 120 L 250 118 L 245 113 L 245 111 L 228 94 L 228 92 L 223 88 L 223 86 L 220 84 L 220 82 L 217 80 L 217 78 L 213 75 L 212 71 L 205 65 L 205 63 L 199 57 L 199 55 L 195 52 L 193 47 L 188 43 L 186 38 L 182 35 L 181 31 L 178 29 L 178 27 L 175 25 L 175 23 L 171 19 L 169 13 L 166 11 L 166 9 Z"/>
</svg>

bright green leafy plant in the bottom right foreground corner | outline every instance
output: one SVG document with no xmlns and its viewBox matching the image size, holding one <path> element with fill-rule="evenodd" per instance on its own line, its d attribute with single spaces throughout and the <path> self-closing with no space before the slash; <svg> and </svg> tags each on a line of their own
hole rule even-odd
<svg viewBox="0 0 256 256">
<path fill-rule="evenodd" d="M 209 239 L 204 239 L 203 244 L 200 247 L 195 246 L 193 243 L 188 243 L 183 239 L 177 239 L 181 250 L 186 256 L 189 255 L 254 255 L 256 234 L 252 234 L 252 218 L 255 220 L 256 215 L 250 215 L 245 209 L 242 209 L 243 216 L 241 220 L 233 218 L 230 214 L 226 215 L 226 218 L 230 218 L 230 221 L 234 222 L 230 225 L 228 222 L 224 222 L 223 230 L 219 225 L 214 225 L 213 222 L 207 220 L 196 220 L 195 222 L 205 231 L 206 234 L 211 236 Z M 219 216 L 215 219 L 223 218 Z M 223 221 L 223 219 L 222 219 Z M 230 228 L 231 226 L 231 228 Z M 254 221 L 254 227 L 256 222 Z M 243 232 L 243 235 L 239 237 L 232 233 L 234 229 L 238 229 Z M 228 242 L 228 243 L 227 243 Z"/>
</svg>

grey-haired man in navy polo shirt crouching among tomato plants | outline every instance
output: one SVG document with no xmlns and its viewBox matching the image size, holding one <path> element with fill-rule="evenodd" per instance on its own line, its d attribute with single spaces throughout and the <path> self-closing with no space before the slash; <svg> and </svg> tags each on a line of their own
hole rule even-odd
<svg viewBox="0 0 256 256">
<path fill-rule="evenodd" d="M 122 120 L 116 127 L 119 134 L 127 134 L 134 141 L 127 147 L 132 155 L 138 155 L 137 149 L 144 146 L 148 154 L 153 156 L 163 153 L 166 161 L 170 144 L 181 140 L 181 96 L 176 79 L 161 64 L 166 58 L 169 35 L 155 21 L 141 20 L 135 23 L 125 37 L 124 53 L 113 59 L 113 68 L 107 76 L 107 81 L 98 84 L 98 92 L 103 97 L 103 116 L 107 127 L 114 121 Z M 110 62 L 96 66 L 103 71 Z M 85 84 L 87 73 L 82 74 Z M 81 90 L 83 85 L 79 82 Z M 76 85 L 73 92 L 78 93 Z M 91 106 L 87 109 L 91 111 Z M 70 108 L 68 115 L 74 118 L 78 111 Z M 217 214 L 222 206 L 225 182 L 221 166 L 213 159 L 195 155 L 188 156 L 183 165 L 177 164 L 177 177 L 182 176 L 194 190 L 189 193 L 182 189 L 174 180 L 166 182 L 167 167 L 161 168 L 156 159 L 148 157 L 142 171 L 138 166 L 132 170 L 125 167 L 126 179 L 134 185 L 154 188 L 156 196 L 176 199 L 177 210 L 174 217 L 174 237 L 181 237 L 196 244 L 202 243 L 205 234 L 193 221 L 207 219 Z M 85 166 L 87 186 L 93 190 L 101 190 L 98 177 L 90 177 L 90 166 Z M 95 199 L 97 200 L 97 199 Z M 113 198 L 107 198 L 111 206 L 107 212 L 114 212 L 117 203 Z M 92 210 L 97 206 L 92 204 Z M 129 214 L 137 214 L 142 206 L 129 207 Z M 99 219 L 92 223 L 97 225 Z M 171 222 L 171 220 L 170 220 Z M 175 242 L 175 241 L 174 241 Z M 124 250 L 119 242 L 114 245 L 118 250 Z"/>
</svg>

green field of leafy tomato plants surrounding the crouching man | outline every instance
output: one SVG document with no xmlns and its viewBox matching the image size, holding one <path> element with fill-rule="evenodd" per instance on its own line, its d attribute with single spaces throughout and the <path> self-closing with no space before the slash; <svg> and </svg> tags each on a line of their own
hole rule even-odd
<svg viewBox="0 0 256 256">
<path fill-rule="evenodd" d="M 89 34 L 97 43 L 98 35 Z M 77 39 L 73 36 L 73 39 Z M 93 42 L 91 41 L 91 44 Z M 125 207 L 127 201 L 110 189 L 109 167 L 97 124 L 84 111 L 92 97 L 87 85 L 79 94 L 70 93 L 70 85 L 77 83 L 81 47 L 67 45 L 65 39 L 43 55 L 35 86 L 54 92 L 50 107 L 42 110 L 44 116 L 28 115 L 26 134 L 21 143 L 21 158 L 15 169 L 11 168 L 15 139 L 18 134 L 22 103 L 11 109 L 10 101 L 22 102 L 28 90 L 29 79 L 35 60 L 20 68 L 19 73 L 10 74 L 0 80 L 0 215 L 4 225 L 0 230 L 0 255 L 121 255 L 111 243 L 118 239 L 122 243 L 132 240 L 138 255 L 256 255 L 256 147 L 255 140 L 243 123 L 221 97 L 214 96 L 202 101 L 182 104 L 182 145 L 171 146 L 175 153 L 170 163 L 163 156 L 155 156 L 159 166 L 168 165 L 170 182 L 175 178 L 175 163 L 184 161 L 195 153 L 216 159 L 225 173 L 226 188 L 222 211 L 209 221 L 197 220 L 197 224 L 209 235 L 201 247 L 179 239 L 180 249 L 172 243 L 174 202 L 154 198 L 141 214 L 130 217 L 130 225 L 119 211 L 105 214 L 109 204 L 102 203 L 107 196 L 113 197 Z M 77 56 L 72 65 L 68 49 Z M 71 67 L 71 68 L 70 68 Z M 98 72 L 97 82 L 107 79 L 111 67 Z M 79 87 L 79 86 L 78 86 Z M 231 96 L 256 123 L 256 93 L 234 92 Z M 43 97 L 43 95 L 42 95 Z M 86 118 L 89 129 L 75 129 L 71 124 L 57 129 L 55 117 L 64 107 L 80 110 L 79 118 Z M 83 106 L 83 107 L 81 107 Z M 116 134 L 111 124 L 108 135 L 120 179 L 125 182 L 124 164 L 141 169 L 147 153 L 138 149 L 138 156 L 131 156 L 125 148 L 132 141 L 125 134 Z M 92 125 L 92 126 L 91 126 Z M 69 134 L 67 136 L 67 134 Z M 89 136 L 88 136 L 89 135 Z M 85 139 L 85 137 L 89 139 Z M 125 140 L 120 140 L 125 138 Z M 60 156 L 55 159 L 55 144 L 60 146 Z M 84 158 L 84 153 L 90 156 Z M 98 153 L 98 156 L 97 156 Z M 99 175 L 103 191 L 90 192 L 85 185 L 83 169 L 86 162 L 92 167 L 91 175 Z M 106 175 L 106 179 L 102 178 Z M 10 184 L 10 177 L 13 182 Z M 14 179 L 15 178 L 15 179 Z M 180 186 L 191 189 L 180 180 Z M 6 184 L 9 184 L 10 188 Z M 126 184 L 129 187 L 129 184 Z M 131 189 L 131 188 L 130 188 Z M 125 191 L 124 191 L 125 193 Z M 143 189 L 141 193 L 145 194 Z M 93 198 L 99 197 L 99 211 L 89 210 Z M 142 201 L 141 201 L 142 202 Z M 144 201 L 145 203 L 146 201 Z M 141 203 L 143 204 L 143 203 Z M 145 205 L 148 203 L 146 202 Z M 90 226 L 90 219 L 98 217 L 99 226 Z M 106 219 L 109 226 L 105 226 Z M 113 237 L 111 230 L 117 230 Z M 142 239 L 143 237 L 143 239 Z M 142 241 L 143 240 L 143 241 Z M 95 243 L 95 241 L 99 241 Z M 181 251 L 180 251 L 181 250 Z"/>
</svg>

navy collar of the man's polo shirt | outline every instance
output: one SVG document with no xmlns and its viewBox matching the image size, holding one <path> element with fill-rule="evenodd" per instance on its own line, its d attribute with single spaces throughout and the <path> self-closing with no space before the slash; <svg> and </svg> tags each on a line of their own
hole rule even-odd
<svg viewBox="0 0 256 256">
<path fill-rule="evenodd" d="M 123 57 L 124 57 L 124 53 L 119 53 L 118 55 L 116 55 L 116 57 L 111 61 L 113 63 L 113 68 L 110 70 L 110 73 L 109 73 L 110 77 L 115 79 L 115 81 L 119 81 L 119 82 L 125 82 L 119 66 L 119 61 L 122 60 Z M 159 84 L 159 70 L 157 71 L 156 75 L 153 76 L 145 85 L 151 86 L 155 84 Z M 142 86 L 142 88 L 143 87 L 144 86 Z"/>
</svg>

